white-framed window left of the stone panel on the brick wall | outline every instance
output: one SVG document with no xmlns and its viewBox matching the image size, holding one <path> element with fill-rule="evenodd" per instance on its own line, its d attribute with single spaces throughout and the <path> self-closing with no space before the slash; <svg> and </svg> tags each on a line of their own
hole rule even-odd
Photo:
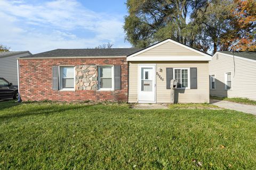
<svg viewBox="0 0 256 170">
<path fill-rule="evenodd" d="M 74 73 L 74 66 L 60 66 L 60 90 L 75 89 Z"/>
</svg>

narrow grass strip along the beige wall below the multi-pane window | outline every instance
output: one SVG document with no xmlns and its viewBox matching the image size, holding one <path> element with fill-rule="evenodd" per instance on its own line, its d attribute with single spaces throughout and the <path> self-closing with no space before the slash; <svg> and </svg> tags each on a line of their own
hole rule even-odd
<svg viewBox="0 0 256 170">
<path fill-rule="evenodd" d="M 209 103 L 186 103 L 186 104 L 170 104 L 169 108 L 171 109 L 191 109 L 191 108 L 198 108 L 198 109 L 212 109 L 212 108 L 219 108 L 218 106 L 211 105 Z"/>
</svg>

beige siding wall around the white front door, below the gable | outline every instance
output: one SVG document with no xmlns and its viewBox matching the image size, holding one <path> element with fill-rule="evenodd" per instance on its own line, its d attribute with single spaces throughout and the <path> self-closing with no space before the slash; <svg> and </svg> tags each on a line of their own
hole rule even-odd
<svg viewBox="0 0 256 170">
<path fill-rule="evenodd" d="M 209 103 L 209 70 L 208 62 L 129 62 L 129 103 L 138 102 L 138 64 L 156 64 L 158 72 L 164 81 L 156 77 L 156 102 L 170 103 L 170 89 L 166 89 L 166 68 L 197 67 L 197 89 L 175 90 L 175 102 L 179 103 Z M 163 71 L 159 72 L 158 67 Z"/>
</svg>

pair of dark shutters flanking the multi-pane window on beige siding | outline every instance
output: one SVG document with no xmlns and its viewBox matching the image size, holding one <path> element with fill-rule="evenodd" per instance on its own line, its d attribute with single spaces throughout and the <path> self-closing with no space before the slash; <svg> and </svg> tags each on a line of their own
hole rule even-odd
<svg viewBox="0 0 256 170">
<path fill-rule="evenodd" d="M 173 68 L 166 68 L 166 89 L 171 89 L 170 83 L 173 79 Z M 190 89 L 197 89 L 197 68 L 190 68 Z"/>
</svg>

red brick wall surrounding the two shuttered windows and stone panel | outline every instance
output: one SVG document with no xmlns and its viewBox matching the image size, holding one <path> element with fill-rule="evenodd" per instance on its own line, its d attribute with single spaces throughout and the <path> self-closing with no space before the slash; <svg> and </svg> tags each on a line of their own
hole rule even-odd
<svg viewBox="0 0 256 170">
<path fill-rule="evenodd" d="M 121 65 L 121 90 L 52 90 L 52 66 L 54 65 Z M 126 58 L 19 60 L 19 67 L 19 92 L 23 101 L 127 101 Z"/>
</svg>

